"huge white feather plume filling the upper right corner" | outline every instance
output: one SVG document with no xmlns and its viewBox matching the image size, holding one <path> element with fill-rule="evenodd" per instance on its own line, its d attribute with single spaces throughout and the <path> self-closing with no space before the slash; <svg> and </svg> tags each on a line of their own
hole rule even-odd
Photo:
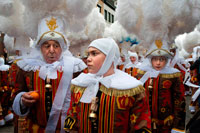
<svg viewBox="0 0 200 133">
<path fill-rule="evenodd" d="M 200 20 L 194 16 L 200 9 L 197 1 L 118 0 L 116 15 L 120 24 L 148 48 L 154 40 L 171 43 L 177 35 L 192 31 Z"/>
</svg>

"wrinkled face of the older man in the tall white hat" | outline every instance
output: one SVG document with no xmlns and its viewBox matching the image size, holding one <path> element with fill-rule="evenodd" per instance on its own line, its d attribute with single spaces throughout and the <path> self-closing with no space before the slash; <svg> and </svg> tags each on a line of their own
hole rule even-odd
<svg viewBox="0 0 200 133">
<path fill-rule="evenodd" d="M 49 40 L 41 45 L 41 52 L 44 60 L 51 64 L 59 60 L 62 53 L 62 48 L 57 41 Z"/>
</svg>

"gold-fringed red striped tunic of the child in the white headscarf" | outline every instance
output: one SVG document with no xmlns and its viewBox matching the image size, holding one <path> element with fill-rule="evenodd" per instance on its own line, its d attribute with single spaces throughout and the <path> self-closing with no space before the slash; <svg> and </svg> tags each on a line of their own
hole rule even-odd
<svg viewBox="0 0 200 133">
<path fill-rule="evenodd" d="M 71 86 L 68 116 L 76 120 L 72 130 L 90 133 L 92 132 L 92 123 L 89 119 L 91 104 L 80 102 L 84 91 L 83 87 Z M 100 85 L 97 97 L 99 98 L 96 112 L 98 133 L 150 132 L 149 105 L 142 86 L 117 90 Z"/>
</svg>

